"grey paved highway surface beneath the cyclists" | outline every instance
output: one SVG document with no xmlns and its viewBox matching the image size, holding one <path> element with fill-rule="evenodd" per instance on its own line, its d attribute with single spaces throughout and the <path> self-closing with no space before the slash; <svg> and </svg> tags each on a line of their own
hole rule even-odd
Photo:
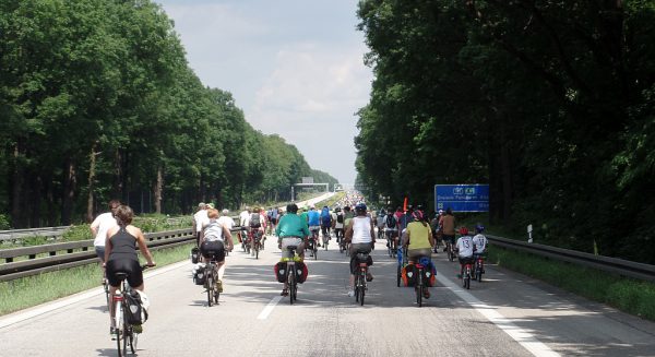
<svg viewBox="0 0 655 357">
<path fill-rule="evenodd" d="M 419 308 L 413 289 L 396 287 L 383 242 L 364 307 L 346 295 L 348 261 L 334 243 L 307 258 L 310 276 L 290 306 L 273 276 L 274 241 L 259 260 L 229 254 L 211 308 L 190 261 L 147 271 L 138 356 L 655 356 L 655 323 L 492 265 L 464 290 L 444 253 L 433 255 L 439 283 Z M 0 356 L 116 355 L 99 287 L 0 318 Z"/>
</svg>

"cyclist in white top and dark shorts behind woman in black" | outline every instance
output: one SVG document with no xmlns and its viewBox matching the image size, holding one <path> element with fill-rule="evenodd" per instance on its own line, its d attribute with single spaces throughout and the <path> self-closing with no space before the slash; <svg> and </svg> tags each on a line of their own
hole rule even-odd
<svg viewBox="0 0 655 357">
<path fill-rule="evenodd" d="M 207 211 L 210 223 L 202 230 L 200 253 L 205 260 L 214 257 L 218 265 L 218 293 L 223 293 L 223 275 L 225 274 L 225 250 L 231 251 L 231 234 L 227 226 L 219 223 L 218 210 Z"/>
</svg>

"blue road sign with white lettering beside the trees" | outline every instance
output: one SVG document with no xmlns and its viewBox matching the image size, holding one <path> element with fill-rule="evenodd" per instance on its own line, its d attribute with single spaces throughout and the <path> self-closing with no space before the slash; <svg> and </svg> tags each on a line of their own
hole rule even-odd
<svg viewBox="0 0 655 357">
<path fill-rule="evenodd" d="M 434 207 L 453 212 L 489 212 L 489 185 L 434 185 Z"/>
</svg>

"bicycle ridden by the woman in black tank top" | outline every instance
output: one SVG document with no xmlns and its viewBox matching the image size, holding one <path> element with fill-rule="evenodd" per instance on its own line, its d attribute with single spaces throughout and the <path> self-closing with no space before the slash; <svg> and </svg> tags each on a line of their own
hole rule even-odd
<svg viewBox="0 0 655 357">
<path fill-rule="evenodd" d="M 144 271 L 151 265 L 141 265 L 141 270 Z M 139 343 L 139 332 L 135 332 L 133 326 L 128 323 L 126 319 L 126 311 L 128 311 L 128 295 L 132 291 L 132 287 L 127 282 L 127 273 L 116 273 L 116 277 L 120 281 L 120 288 L 114 293 L 111 301 L 114 302 L 114 334 L 116 345 L 118 347 L 118 356 L 126 356 L 128 353 L 128 345 L 132 354 L 136 353 L 136 344 Z"/>
</svg>

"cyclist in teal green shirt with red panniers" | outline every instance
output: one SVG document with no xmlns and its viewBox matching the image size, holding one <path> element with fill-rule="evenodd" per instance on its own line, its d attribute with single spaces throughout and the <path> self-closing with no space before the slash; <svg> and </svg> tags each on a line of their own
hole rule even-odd
<svg viewBox="0 0 655 357">
<path fill-rule="evenodd" d="M 289 246 L 298 247 L 296 249 L 298 255 L 301 260 L 305 258 L 303 240 L 309 236 L 309 228 L 298 215 L 298 206 L 295 203 L 287 205 L 287 212 L 279 218 L 275 234 L 277 235 L 277 247 L 282 249 L 282 258 L 294 258 L 289 257 L 289 251 L 286 249 Z M 286 282 L 279 295 L 289 295 Z"/>
</svg>

